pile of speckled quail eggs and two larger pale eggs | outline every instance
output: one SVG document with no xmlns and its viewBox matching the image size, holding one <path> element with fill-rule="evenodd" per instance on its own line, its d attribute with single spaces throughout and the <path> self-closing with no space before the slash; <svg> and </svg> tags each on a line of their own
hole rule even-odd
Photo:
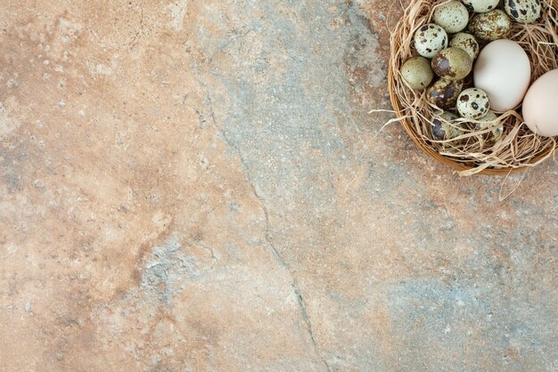
<svg viewBox="0 0 558 372">
<path fill-rule="evenodd" d="M 504 133 L 496 113 L 516 109 L 522 102 L 526 125 L 542 136 L 558 135 L 558 69 L 530 86 L 531 66 L 520 44 L 506 37 L 512 22 L 531 23 L 541 17 L 539 0 L 452 0 L 434 10 L 432 21 L 414 33 L 419 55 L 408 59 L 401 76 L 414 90 L 426 89 L 426 99 L 443 110 L 431 120 L 434 140 L 464 134 L 464 120 L 475 130 L 488 125 L 490 139 Z M 466 32 L 465 32 L 466 30 Z M 480 45 L 485 45 L 482 49 Z M 472 75 L 473 86 L 464 89 Z M 438 77 L 433 82 L 434 77 Z M 453 110 L 455 109 L 455 113 Z M 459 116 L 458 116 L 458 115 Z M 459 124 L 460 123 L 460 124 Z"/>
</svg>

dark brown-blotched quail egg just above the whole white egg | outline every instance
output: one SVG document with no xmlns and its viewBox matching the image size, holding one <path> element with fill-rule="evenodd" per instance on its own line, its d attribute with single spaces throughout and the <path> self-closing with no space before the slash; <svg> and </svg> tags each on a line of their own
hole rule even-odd
<svg viewBox="0 0 558 372">
<path fill-rule="evenodd" d="M 504 39 L 510 33 L 510 29 L 512 20 L 500 9 L 477 14 L 469 22 L 472 35 L 486 41 Z"/>
</svg>

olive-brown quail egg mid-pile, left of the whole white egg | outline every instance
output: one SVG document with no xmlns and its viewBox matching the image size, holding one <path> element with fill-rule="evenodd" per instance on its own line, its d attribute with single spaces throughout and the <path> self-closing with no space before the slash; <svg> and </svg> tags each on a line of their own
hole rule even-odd
<svg viewBox="0 0 558 372">
<path fill-rule="evenodd" d="M 451 47 L 436 54 L 432 69 L 443 79 L 462 80 L 472 70 L 472 59 L 463 49 Z"/>
</svg>

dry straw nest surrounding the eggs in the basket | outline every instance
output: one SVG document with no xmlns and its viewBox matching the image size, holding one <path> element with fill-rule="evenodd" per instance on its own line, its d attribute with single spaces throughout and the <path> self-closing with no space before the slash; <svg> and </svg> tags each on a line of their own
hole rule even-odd
<svg viewBox="0 0 558 372">
<path fill-rule="evenodd" d="M 390 98 L 406 132 L 422 150 L 453 166 L 461 175 L 509 174 L 554 157 L 558 138 L 541 137 L 531 132 L 521 117 L 521 106 L 500 114 L 482 130 L 475 129 L 478 121 L 460 119 L 455 125 L 464 131 L 463 135 L 447 141 L 432 139 L 432 117 L 438 117 L 442 110 L 426 100 L 425 90 L 410 89 L 399 71 L 408 58 L 416 55 L 414 31 L 431 22 L 436 7 L 444 3 L 447 0 L 412 0 L 391 32 Z M 543 16 L 537 23 L 513 22 L 509 37 L 521 44 L 529 55 L 531 83 L 547 71 L 558 69 L 558 0 L 542 0 L 541 3 Z M 481 48 L 483 46 L 480 44 Z M 468 80 L 464 89 L 472 86 L 472 79 Z M 504 133 L 494 140 L 489 133 L 498 125 L 504 126 Z"/>
</svg>

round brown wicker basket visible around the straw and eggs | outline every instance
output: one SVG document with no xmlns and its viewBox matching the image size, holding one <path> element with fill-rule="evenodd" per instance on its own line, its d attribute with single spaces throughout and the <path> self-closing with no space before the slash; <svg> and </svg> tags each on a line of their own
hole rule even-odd
<svg viewBox="0 0 558 372">
<path fill-rule="evenodd" d="M 550 3 L 552 1 L 552 3 Z M 414 29 L 418 28 L 420 25 L 414 24 L 414 20 L 410 19 L 412 17 L 413 12 L 411 9 L 414 7 L 416 9 L 417 4 L 427 4 L 428 6 L 424 7 L 425 9 L 431 9 L 436 4 L 445 3 L 447 0 L 411 0 L 411 4 L 407 7 L 406 11 L 404 12 L 404 16 L 401 20 L 398 21 L 396 28 L 391 30 L 391 53 L 395 55 L 394 52 L 398 51 L 401 45 L 401 40 L 405 39 L 409 36 L 410 33 L 414 32 Z M 547 0 L 547 4 L 552 4 L 552 8 L 554 8 L 554 12 L 558 9 L 558 0 Z M 427 15 L 427 12 L 430 11 L 423 11 L 421 12 L 421 16 Z M 411 55 L 407 55 L 406 57 L 410 57 Z M 502 174 L 510 174 L 514 172 L 520 172 L 528 169 L 531 166 L 535 166 L 545 160 L 546 158 L 551 158 L 554 156 L 556 150 L 558 150 L 558 143 L 554 141 L 555 145 L 548 147 L 544 152 L 537 154 L 536 157 L 533 157 L 529 160 L 529 164 L 521 165 L 521 166 L 501 166 L 501 167 L 483 167 L 474 164 L 468 164 L 468 162 L 460 161 L 459 159 L 449 158 L 439 154 L 439 151 L 433 149 L 428 142 L 427 139 L 424 139 L 422 135 L 417 133 L 415 130 L 415 123 L 414 118 L 408 118 L 406 115 L 406 109 L 404 104 L 399 100 L 398 95 L 395 93 L 394 86 L 401 85 L 400 75 L 398 75 L 398 69 L 402 65 L 404 58 L 399 60 L 394 60 L 394 58 L 390 58 L 390 71 L 388 76 L 388 88 L 390 91 L 390 100 L 393 106 L 394 111 L 396 112 L 397 117 L 399 118 L 399 122 L 406 130 L 406 133 L 411 137 L 411 139 L 416 143 L 416 145 L 429 154 L 432 158 L 436 158 L 439 162 L 451 166 L 455 168 L 457 171 L 460 172 L 462 175 L 471 175 L 471 174 L 488 174 L 488 175 L 502 175 Z"/>
</svg>

